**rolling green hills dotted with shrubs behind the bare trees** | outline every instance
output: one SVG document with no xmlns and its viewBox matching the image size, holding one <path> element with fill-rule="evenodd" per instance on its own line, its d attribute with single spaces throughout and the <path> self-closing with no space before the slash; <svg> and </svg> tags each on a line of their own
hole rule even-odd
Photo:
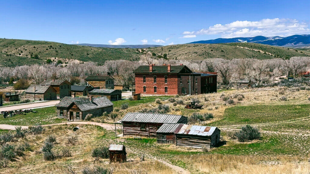
<svg viewBox="0 0 310 174">
<path fill-rule="evenodd" d="M 139 60 L 167 54 L 167 59 L 203 60 L 223 59 L 272 59 L 293 56 L 310 56 L 309 50 L 297 50 L 255 43 L 181 44 L 141 50 L 129 48 L 100 48 L 69 45 L 49 41 L 0 39 L 0 66 L 44 63 L 46 59 L 76 59 L 103 64 L 106 60 Z"/>
</svg>

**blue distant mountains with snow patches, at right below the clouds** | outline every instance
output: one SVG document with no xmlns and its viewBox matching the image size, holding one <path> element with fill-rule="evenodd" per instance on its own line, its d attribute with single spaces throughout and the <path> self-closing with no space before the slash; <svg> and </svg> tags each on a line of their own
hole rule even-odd
<svg viewBox="0 0 310 174">
<path fill-rule="evenodd" d="M 285 47 L 309 47 L 310 46 L 310 35 L 293 35 L 288 37 L 264 37 L 264 36 L 255 36 L 255 37 L 235 37 L 235 38 L 218 38 L 214 40 L 206 41 L 195 41 L 190 42 L 189 44 L 200 43 L 200 44 L 217 44 L 217 43 L 231 43 L 231 42 L 252 42 L 259 44 L 266 44 L 272 46 L 285 46 Z"/>
</svg>

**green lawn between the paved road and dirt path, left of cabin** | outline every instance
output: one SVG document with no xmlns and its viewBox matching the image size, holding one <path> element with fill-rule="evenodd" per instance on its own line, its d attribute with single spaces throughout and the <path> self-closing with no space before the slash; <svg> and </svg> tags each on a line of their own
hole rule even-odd
<svg viewBox="0 0 310 174">
<path fill-rule="evenodd" d="M 1 124 L 30 126 L 36 124 L 54 124 L 66 122 L 65 119 L 59 119 L 56 115 L 56 107 L 45 107 L 34 109 L 38 113 L 27 113 L 26 115 L 15 115 L 10 118 L 0 118 Z"/>
</svg>

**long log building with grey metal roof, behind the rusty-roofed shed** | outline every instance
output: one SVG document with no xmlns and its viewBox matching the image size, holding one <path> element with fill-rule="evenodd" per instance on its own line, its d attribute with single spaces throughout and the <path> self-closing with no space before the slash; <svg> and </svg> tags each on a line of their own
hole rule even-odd
<svg viewBox="0 0 310 174">
<path fill-rule="evenodd" d="M 156 131 L 163 124 L 187 124 L 187 117 L 183 115 L 129 112 L 120 121 L 123 126 L 123 136 L 156 138 Z"/>
</svg>

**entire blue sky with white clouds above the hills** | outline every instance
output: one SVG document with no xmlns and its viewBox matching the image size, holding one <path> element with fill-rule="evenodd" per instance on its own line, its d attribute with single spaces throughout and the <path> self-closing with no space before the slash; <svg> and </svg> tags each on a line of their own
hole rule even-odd
<svg viewBox="0 0 310 174">
<path fill-rule="evenodd" d="M 310 1 L 0 0 L 0 37 L 91 44 L 182 44 L 310 34 Z"/>
</svg>

